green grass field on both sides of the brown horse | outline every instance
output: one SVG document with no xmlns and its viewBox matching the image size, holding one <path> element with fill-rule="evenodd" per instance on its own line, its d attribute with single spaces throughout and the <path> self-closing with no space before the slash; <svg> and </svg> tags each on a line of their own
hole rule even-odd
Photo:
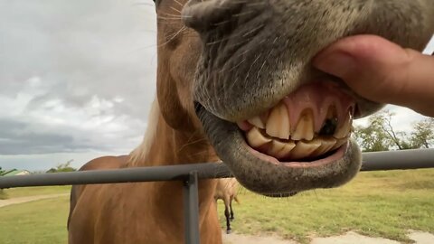
<svg viewBox="0 0 434 244">
<path fill-rule="evenodd" d="M 69 187 L 6 190 L 9 197 L 68 192 Z M 344 187 L 270 199 L 245 190 L 233 204 L 234 232 L 277 233 L 307 243 L 311 236 L 355 230 L 408 242 L 407 230 L 434 233 L 434 169 L 361 173 Z M 66 243 L 68 197 L 0 208 L 0 243 Z M 219 215 L 222 214 L 219 202 Z"/>
</svg>

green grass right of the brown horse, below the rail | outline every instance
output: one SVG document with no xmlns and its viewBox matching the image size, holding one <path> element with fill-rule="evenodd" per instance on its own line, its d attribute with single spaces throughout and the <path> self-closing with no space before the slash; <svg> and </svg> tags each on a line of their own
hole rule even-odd
<svg viewBox="0 0 434 244">
<path fill-rule="evenodd" d="M 434 170 L 358 174 L 344 187 L 270 199 L 241 191 L 232 230 L 270 232 L 307 243 L 311 236 L 358 233 L 410 242 L 408 230 L 434 232 Z M 224 206 L 219 216 L 225 228 Z"/>
</svg>

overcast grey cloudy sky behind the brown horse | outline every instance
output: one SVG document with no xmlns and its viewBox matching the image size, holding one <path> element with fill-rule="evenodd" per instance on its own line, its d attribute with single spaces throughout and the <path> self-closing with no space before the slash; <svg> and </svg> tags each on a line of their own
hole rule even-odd
<svg viewBox="0 0 434 244">
<path fill-rule="evenodd" d="M 78 167 L 141 141 L 155 95 L 151 0 L 0 1 L 0 30 L 1 167 Z M 421 117 L 390 109 L 400 129 Z"/>
</svg>

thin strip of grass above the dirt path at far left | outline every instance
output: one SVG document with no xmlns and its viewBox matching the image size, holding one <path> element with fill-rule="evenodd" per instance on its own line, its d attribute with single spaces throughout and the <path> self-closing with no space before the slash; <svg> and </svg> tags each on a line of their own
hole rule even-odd
<svg viewBox="0 0 434 244">
<path fill-rule="evenodd" d="M 71 192 L 70 185 L 61 186 L 37 186 L 37 187 L 23 187 L 5 189 L 5 194 L 8 198 L 48 195 L 48 194 L 61 194 Z"/>
</svg>

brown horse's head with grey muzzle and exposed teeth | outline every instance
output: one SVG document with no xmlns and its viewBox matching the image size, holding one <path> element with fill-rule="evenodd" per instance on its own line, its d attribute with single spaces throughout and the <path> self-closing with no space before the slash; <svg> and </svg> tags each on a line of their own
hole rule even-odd
<svg viewBox="0 0 434 244">
<path fill-rule="evenodd" d="M 157 98 L 167 124 L 207 136 L 246 188 L 285 196 L 348 182 L 353 118 L 382 104 L 311 65 L 356 34 L 421 50 L 432 0 L 157 0 Z"/>
</svg>

